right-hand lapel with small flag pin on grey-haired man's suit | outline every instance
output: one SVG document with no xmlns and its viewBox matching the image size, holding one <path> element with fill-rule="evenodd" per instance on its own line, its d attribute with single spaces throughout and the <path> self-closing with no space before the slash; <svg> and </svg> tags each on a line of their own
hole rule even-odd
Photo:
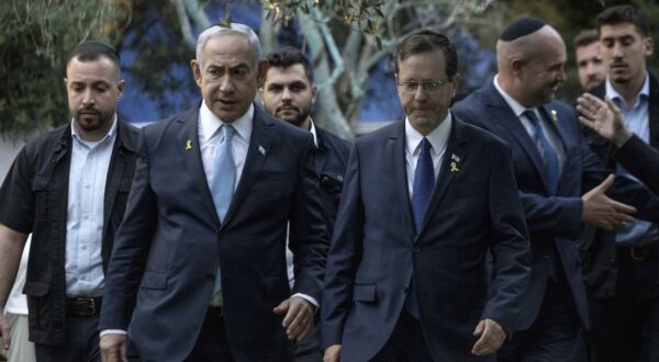
<svg viewBox="0 0 659 362">
<path fill-rule="evenodd" d="M 264 162 L 270 152 L 270 145 L 272 143 L 270 127 L 272 127 L 275 123 L 272 120 L 266 117 L 258 106 L 254 108 L 253 122 L 254 126 L 252 128 L 249 147 L 247 148 L 247 157 L 245 158 L 245 167 L 243 167 L 238 186 L 231 200 L 231 205 L 228 206 L 222 226 L 226 225 L 232 219 L 238 206 L 243 203 L 243 200 L 245 200 L 245 196 L 249 192 L 254 181 L 256 181 L 258 173 L 264 167 Z"/>
</svg>

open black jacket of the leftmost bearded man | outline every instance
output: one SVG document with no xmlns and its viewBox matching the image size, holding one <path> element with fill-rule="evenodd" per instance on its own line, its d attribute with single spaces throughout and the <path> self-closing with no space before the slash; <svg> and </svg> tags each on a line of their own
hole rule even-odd
<svg viewBox="0 0 659 362">
<path fill-rule="evenodd" d="M 137 128 L 120 118 L 103 196 L 104 270 L 126 208 L 137 138 Z M 0 189 L 0 223 L 32 233 L 23 293 L 27 295 L 30 340 L 42 344 L 62 344 L 66 336 L 64 265 L 71 143 L 70 123 L 31 140 Z"/>
</svg>

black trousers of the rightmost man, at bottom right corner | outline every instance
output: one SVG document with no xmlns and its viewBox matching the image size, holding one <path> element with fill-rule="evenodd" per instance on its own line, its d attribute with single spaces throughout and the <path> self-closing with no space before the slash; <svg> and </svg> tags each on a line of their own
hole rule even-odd
<svg viewBox="0 0 659 362">
<path fill-rule="evenodd" d="M 617 272 L 615 297 L 590 302 L 591 360 L 659 361 L 659 258 L 618 248 Z"/>
</svg>

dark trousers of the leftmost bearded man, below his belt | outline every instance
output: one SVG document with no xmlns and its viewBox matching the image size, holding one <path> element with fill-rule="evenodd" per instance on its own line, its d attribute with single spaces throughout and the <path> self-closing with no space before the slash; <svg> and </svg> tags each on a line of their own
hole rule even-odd
<svg viewBox="0 0 659 362">
<path fill-rule="evenodd" d="M 37 362 L 97 362 L 99 350 L 99 315 L 66 316 L 63 346 L 35 343 Z"/>
</svg>

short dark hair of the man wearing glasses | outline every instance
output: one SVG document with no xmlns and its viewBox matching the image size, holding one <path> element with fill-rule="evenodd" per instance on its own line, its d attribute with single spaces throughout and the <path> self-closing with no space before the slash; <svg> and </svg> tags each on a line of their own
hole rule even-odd
<svg viewBox="0 0 659 362">
<path fill-rule="evenodd" d="M 405 60 L 407 57 L 415 54 L 435 50 L 442 50 L 444 53 L 444 60 L 446 60 L 446 76 L 448 79 L 453 79 L 458 72 L 458 50 L 456 49 L 456 45 L 445 35 L 431 30 L 422 30 L 410 34 L 396 45 L 393 54 L 395 73 L 398 75 L 399 72 L 400 61 Z"/>
</svg>

